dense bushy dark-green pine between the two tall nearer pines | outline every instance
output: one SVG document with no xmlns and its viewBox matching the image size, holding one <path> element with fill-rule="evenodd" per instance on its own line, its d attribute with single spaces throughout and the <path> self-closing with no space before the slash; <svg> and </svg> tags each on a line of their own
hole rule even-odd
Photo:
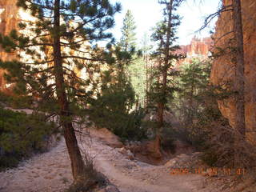
<svg viewBox="0 0 256 192">
<path fill-rule="evenodd" d="M 108 70 L 102 71 L 97 98 L 90 99 L 87 110 L 96 126 L 106 127 L 122 138 L 127 138 L 126 126 L 135 100 L 129 77 L 124 73 L 127 60 L 118 59 Z"/>
</svg>

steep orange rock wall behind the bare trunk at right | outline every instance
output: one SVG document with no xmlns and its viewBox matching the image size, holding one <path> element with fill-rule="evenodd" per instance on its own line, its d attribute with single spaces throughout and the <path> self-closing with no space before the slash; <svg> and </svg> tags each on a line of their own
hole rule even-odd
<svg viewBox="0 0 256 192">
<path fill-rule="evenodd" d="M 231 5 L 231 0 L 223 0 L 225 6 Z M 244 35 L 245 56 L 245 110 L 246 110 L 246 138 L 256 144 L 256 1 L 244 0 L 242 2 L 242 23 Z M 216 23 L 214 34 L 214 47 L 226 49 L 230 46 L 230 39 L 234 37 L 231 11 L 223 12 Z M 216 58 L 211 72 L 211 82 L 214 85 L 223 85 L 224 82 L 234 80 L 234 63 L 232 54 L 223 54 Z M 218 106 L 230 125 L 234 126 L 235 102 L 229 98 L 218 101 Z"/>
</svg>

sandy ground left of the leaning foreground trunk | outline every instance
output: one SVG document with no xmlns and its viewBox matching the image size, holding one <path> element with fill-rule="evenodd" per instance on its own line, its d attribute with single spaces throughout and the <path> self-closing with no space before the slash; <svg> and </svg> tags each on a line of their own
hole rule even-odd
<svg viewBox="0 0 256 192">
<path fill-rule="evenodd" d="M 1 172 L 0 191 L 63 191 L 71 178 L 69 157 L 62 139 L 49 152 L 38 154 L 20 163 L 17 168 Z"/>
</svg>

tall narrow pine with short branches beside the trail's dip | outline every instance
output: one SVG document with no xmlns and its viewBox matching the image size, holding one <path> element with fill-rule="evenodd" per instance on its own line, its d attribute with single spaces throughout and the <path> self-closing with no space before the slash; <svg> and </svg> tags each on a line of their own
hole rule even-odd
<svg viewBox="0 0 256 192">
<path fill-rule="evenodd" d="M 180 19 L 178 15 L 174 14 L 174 11 L 177 10 L 181 2 L 181 0 L 159 1 L 160 4 L 165 6 L 163 9 L 164 19 L 162 22 L 158 22 L 158 26 L 152 35 L 153 40 L 158 42 L 158 49 L 152 54 L 152 57 L 158 62 L 158 71 L 156 73 L 158 80 L 154 84 L 151 99 L 157 105 L 158 129 L 156 130 L 154 149 L 156 156 L 159 158 L 161 157 L 159 153 L 161 132 L 164 127 L 163 114 L 164 110 L 166 110 L 168 99 L 173 98 L 174 90 L 176 90 L 170 77 L 177 74 L 171 68 L 173 66 L 173 60 L 179 58 L 177 54 L 173 54 L 179 48 L 178 46 L 174 46 L 174 42 L 177 39 L 175 37 L 175 30 L 180 24 Z"/>
</svg>

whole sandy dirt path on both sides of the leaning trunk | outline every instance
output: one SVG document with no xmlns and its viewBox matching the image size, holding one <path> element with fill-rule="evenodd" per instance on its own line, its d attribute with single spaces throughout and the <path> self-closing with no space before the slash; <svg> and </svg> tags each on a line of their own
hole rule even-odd
<svg viewBox="0 0 256 192">
<path fill-rule="evenodd" d="M 97 169 L 121 192 L 190 192 L 199 191 L 202 186 L 200 175 L 170 175 L 165 166 L 131 161 L 98 138 L 82 137 L 79 142 L 94 157 Z M 1 192 L 62 192 L 71 182 L 70 160 L 63 138 L 49 152 L 0 173 Z"/>
</svg>

